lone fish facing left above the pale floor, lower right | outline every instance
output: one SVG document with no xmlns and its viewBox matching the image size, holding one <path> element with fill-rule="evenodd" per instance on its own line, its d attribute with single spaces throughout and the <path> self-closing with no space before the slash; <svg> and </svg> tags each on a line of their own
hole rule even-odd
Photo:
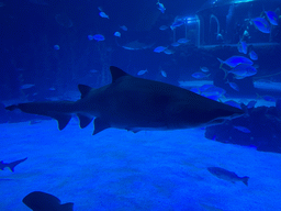
<svg viewBox="0 0 281 211">
<path fill-rule="evenodd" d="M 212 175 L 216 176 L 220 179 L 232 181 L 233 184 L 235 184 L 235 181 L 241 181 L 243 184 L 248 186 L 249 177 L 247 176 L 238 177 L 235 173 L 220 167 L 207 167 L 207 170 L 209 173 L 211 173 Z"/>
</svg>

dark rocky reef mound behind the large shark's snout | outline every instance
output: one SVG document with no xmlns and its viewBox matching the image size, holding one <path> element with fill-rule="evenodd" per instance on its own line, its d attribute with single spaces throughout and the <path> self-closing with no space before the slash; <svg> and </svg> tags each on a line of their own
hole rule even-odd
<svg viewBox="0 0 281 211">
<path fill-rule="evenodd" d="M 207 126 L 205 137 L 255 146 L 257 151 L 281 153 L 281 110 L 278 106 L 249 109 L 248 115 Z"/>
</svg>

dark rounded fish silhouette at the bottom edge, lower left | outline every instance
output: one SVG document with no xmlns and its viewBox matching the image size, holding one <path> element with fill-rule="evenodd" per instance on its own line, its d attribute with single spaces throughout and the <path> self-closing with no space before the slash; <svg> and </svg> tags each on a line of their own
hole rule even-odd
<svg viewBox="0 0 281 211">
<path fill-rule="evenodd" d="M 41 191 L 29 193 L 22 202 L 33 211 L 74 211 L 74 203 L 61 204 L 57 197 Z"/>
</svg>

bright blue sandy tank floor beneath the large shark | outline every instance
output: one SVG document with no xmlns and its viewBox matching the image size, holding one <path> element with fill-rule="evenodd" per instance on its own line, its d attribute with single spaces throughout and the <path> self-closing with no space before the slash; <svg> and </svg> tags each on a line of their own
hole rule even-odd
<svg viewBox="0 0 281 211">
<path fill-rule="evenodd" d="M 21 200 L 34 190 L 77 211 L 280 209 L 280 154 L 210 141 L 200 129 L 91 132 L 76 120 L 64 131 L 56 121 L 1 125 L 1 158 L 29 158 L 1 171 L 0 210 L 30 210 Z M 249 176 L 249 186 L 218 179 L 210 166 Z"/>
</svg>

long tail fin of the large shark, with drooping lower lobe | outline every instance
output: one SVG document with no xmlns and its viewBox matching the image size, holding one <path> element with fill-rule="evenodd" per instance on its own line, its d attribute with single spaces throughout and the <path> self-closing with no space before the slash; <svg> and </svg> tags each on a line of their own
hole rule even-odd
<svg viewBox="0 0 281 211">
<path fill-rule="evenodd" d="M 70 121 L 71 113 L 75 112 L 74 103 L 72 101 L 27 102 L 12 104 L 5 109 L 9 111 L 20 109 L 25 113 L 50 116 L 57 120 L 58 129 L 63 130 Z"/>
</svg>

